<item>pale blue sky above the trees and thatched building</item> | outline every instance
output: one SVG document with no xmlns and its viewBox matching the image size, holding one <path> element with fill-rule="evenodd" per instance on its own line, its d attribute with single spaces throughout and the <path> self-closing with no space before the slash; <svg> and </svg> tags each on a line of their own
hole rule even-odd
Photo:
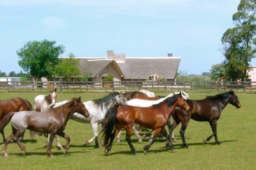
<svg viewBox="0 0 256 170">
<path fill-rule="evenodd" d="M 0 0 L 0 70 L 19 73 L 20 50 L 44 39 L 61 56 L 181 57 L 178 70 L 201 75 L 224 60 L 221 37 L 240 0 Z M 256 65 L 254 59 L 251 65 Z"/>
</svg>

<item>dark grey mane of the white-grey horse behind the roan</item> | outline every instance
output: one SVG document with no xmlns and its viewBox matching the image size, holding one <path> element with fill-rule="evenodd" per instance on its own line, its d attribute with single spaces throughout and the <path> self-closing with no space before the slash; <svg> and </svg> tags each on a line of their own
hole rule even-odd
<svg viewBox="0 0 256 170">
<path fill-rule="evenodd" d="M 108 108 L 108 106 L 114 102 L 116 102 L 116 98 L 115 96 L 117 96 L 119 94 L 119 92 L 113 92 L 113 93 L 109 93 L 109 95 L 98 99 L 98 100 L 93 100 L 93 104 L 96 106 L 100 106 L 100 108 L 103 110 L 103 106 L 105 108 Z"/>
</svg>

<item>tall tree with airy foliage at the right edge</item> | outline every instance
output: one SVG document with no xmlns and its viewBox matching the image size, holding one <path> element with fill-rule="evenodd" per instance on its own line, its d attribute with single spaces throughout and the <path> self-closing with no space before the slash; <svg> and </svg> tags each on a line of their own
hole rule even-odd
<svg viewBox="0 0 256 170">
<path fill-rule="evenodd" d="M 241 0 L 233 15 L 234 28 L 222 36 L 223 62 L 227 79 L 244 80 L 256 57 L 256 0 Z"/>
</svg>

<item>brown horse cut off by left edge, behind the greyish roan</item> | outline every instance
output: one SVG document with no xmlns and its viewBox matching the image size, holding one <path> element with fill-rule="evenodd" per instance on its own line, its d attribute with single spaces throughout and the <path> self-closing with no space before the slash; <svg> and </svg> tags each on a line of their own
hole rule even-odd
<svg viewBox="0 0 256 170">
<path fill-rule="evenodd" d="M 9 112 L 20 112 L 20 111 L 32 111 L 32 105 L 29 101 L 22 98 L 12 98 L 9 100 L 0 100 L 0 123 L 2 119 Z M 5 136 L 3 129 L 0 131 L 2 134 L 3 142 L 5 142 Z M 21 136 L 20 140 L 23 140 Z"/>
</svg>

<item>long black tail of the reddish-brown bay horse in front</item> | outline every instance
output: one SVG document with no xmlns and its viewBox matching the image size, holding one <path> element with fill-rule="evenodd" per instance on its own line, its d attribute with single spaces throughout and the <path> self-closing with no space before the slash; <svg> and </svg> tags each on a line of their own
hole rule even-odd
<svg viewBox="0 0 256 170">
<path fill-rule="evenodd" d="M 103 146 L 106 146 L 108 144 L 108 141 L 112 135 L 112 132 L 114 130 L 114 125 L 116 122 L 117 112 L 118 112 L 117 108 L 112 108 L 109 111 L 108 121 L 107 121 L 105 127 L 101 131 L 101 133 L 103 132 L 101 139 L 104 138 Z"/>
</svg>

